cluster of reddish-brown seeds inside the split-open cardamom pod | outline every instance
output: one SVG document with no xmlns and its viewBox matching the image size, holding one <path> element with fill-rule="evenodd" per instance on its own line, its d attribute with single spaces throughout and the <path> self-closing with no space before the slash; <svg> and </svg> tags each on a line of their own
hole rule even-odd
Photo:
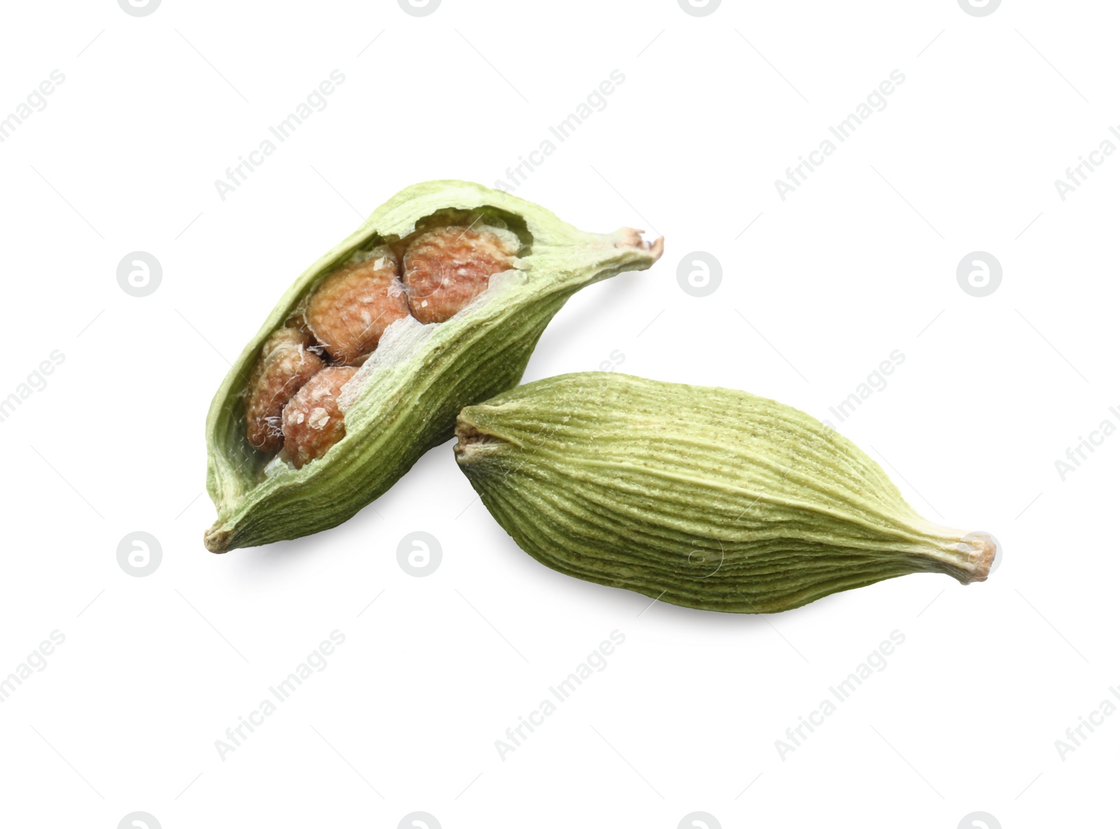
<svg viewBox="0 0 1120 829">
<path fill-rule="evenodd" d="M 410 314 L 424 324 L 450 319 L 493 274 L 513 268 L 519 246 L 504 229 L 449 225 L 375 248 L 328 274 L 307 299 L 302 327 L 281 328 L 261 350 L 245 402 L 249 443 L 283 448 L 296 468 L 323 457 L 346 435 L 342 388 L 385 329 Z"/>
</svg>

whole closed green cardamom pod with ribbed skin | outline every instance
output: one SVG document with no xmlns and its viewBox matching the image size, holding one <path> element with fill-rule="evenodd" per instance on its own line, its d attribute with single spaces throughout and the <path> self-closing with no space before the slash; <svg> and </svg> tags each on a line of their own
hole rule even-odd
<svg viewBox="0 0 1120 829">
<path fill-rule="evenodd" d="M 567 374 L 467 407 L 456 435 L 525 552 L 685 607 L 775 613 L 911 572 L 982 581 L 997 550 L 924 520 L 839 432 L 741 391 Z"/>
</svg>

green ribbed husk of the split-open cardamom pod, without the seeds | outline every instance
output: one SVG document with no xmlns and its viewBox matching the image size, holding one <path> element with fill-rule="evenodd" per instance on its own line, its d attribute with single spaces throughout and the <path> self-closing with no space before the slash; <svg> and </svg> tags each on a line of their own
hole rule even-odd
<svg viewBox="0 0 1120 829">
<path fill-rule="evenodd" d="M 269 456 L 245 438 L 243 394 L 268 336 L 284 325 L 319 281 L 352 254 L 403 239 L 447 209 L 476 211 L 515 232 L 517 270 L 498 274 L 444 323 L 407 317 L 390 326 L 361 374 L 345 412 L 346 436 L 301 469 L 265 476 Z M 432 446 L 447 440 L 464 407 L 508 389 L 549 320 L 580 288 L 661 255 L 640 232 L 585 233 L 531 202 L 467 181 L 409 187 L 304 272 L 234 362 L 206 421 L 206 488 L 217 520 L 206 548 L 225 552 L 335 527 L 384 493 Z"/>
</svg>

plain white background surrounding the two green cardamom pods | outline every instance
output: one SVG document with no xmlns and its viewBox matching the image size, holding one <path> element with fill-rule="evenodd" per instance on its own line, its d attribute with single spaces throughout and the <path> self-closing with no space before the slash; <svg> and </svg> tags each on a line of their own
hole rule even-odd
<svg viewBox="0 0 1120 829">
<path fill-rule="evenodd" d="M 65 82 L 0 143 L 0 397 L 53 351 L 65 361 L 0 422 L 0 674 L 52 631 L 65 643 L 0 705 L 0 822 L 1114 821 L 1120 717 L 1064 758 L 1055 740 L 1120 683 L 1120 437 L 1064 481 L 1055 460 L 1120 425 L 1120 158 L 1064 202 L 1054 186 L 1120 124 L 1113 4 L 3 15 L 0 118 L 52 71 Z M 215 179 L 333 69 L 346 80 L 326 109 L 223 201 Z M 521 552 L 450 445 L 336 530 L 203 549 L 206 409 L 281 292 L 400 188 L 505 178 L 613 69 L 625 82 L 606 108 L 516 193 L 585 230 L 664 234 L 665 255 L 569 302 L 525 379 L 617 351 L 631 373 L 828 418 L 923 514 L 1000 539 L 987 583 L 908 576 L 776 616 L 648 606 Z M 906 80 L 886 109 L 783 201 L 775 179 L 894 69 Z M 116 282 L 137 250 L 162 266 L 143 298 Z M 1004 268 L 983 298 L 956 281 L 977 250 Z M 691 251 L 721 263 L 708 297 L 678 282 Z M 830 417 L 894 350 L 887 388 Z M 442 548 L 427 578 L 396 560 L 417 530 Z M 134 531 L 162 548 L 144 578 L 116 560 Z M 225 729 L 335 630 L 328 667 L 220 757 Z M 607 668 L 500 758 L 495 740 L 615 630 Z M 896 630 L 887 668 L 782 758 L 775 740 Z"/>
</svg>

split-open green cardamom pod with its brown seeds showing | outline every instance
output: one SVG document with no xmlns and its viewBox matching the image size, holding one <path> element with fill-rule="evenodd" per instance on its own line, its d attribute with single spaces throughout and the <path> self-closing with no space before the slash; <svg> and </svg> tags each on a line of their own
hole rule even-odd
<svg viewBox="0 0 1120 829">
<path fill-rule="evenodd" d="M 213 552 L 335 527 L 516 384 L 580 288 L 652 266 L 662 240 L 584 233 L 466 181 L 409 187 L 308 268 L 206 420 Z"/>
</svg>

